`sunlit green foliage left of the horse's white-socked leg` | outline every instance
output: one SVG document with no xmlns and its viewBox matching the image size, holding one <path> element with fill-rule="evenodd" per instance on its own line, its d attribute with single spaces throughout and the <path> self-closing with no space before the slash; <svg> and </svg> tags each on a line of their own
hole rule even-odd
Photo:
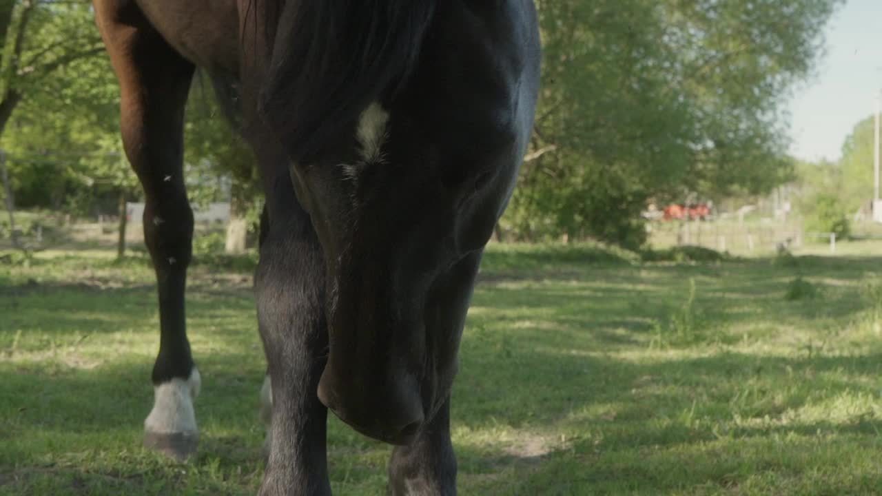
<svg viewBox="0 0 882 496">
<path fill-rule="evenodd" d="M 0 122 L 17 204 L 71 213 L 98 204 L 114 211 L 118 188 L 132 178 L 123 174 L 118 91 L 91 6 L 17 4 L 28 22 L 19 70 L 6 83 L 20 100 L 11 119 Z M 5 67 L 13 62 L 7 59 Z M 2 98 L 11 101 L 9 94 Z"/>
</svg>

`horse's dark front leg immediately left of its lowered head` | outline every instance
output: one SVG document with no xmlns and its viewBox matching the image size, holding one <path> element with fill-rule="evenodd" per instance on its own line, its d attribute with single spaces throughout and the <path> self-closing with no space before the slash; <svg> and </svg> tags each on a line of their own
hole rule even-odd
<svg viewBox="0 0 882 496">
<path fill-rule="evenodd" d="M 265 386 L 272 388 L 264 402 L 272 420 L 260 494 L 329 495 L 327 410 L 317 394 L 327 346 L 325 265 L 309 217 L 295 205 L 276 215 L 270 214 L 255 275 Z"/>
</svg>

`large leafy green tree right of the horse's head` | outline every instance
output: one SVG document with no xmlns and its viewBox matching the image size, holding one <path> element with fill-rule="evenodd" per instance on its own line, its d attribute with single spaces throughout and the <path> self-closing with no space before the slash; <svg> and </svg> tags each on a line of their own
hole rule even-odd
<svg viewBox="0 0 882 496">
<path fill-rule="evenodd" d="M 649 199 L 792 177 L 782 103 L 838 0 L 543 0 L 534 155 L 501 227 L 638 247 Z"/>
</svg>

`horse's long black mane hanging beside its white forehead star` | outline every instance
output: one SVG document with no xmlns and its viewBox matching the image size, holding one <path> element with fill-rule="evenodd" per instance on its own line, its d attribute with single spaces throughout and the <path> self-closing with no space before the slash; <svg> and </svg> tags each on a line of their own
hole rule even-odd
<svg viewBox="0 0 882 496">
<path fill-rule="evenodd" d="M 399 88 L 415 67 L 437 0 L 288 0 L 259 99 L 296 162 L 310 163 Z"/>
</svg>

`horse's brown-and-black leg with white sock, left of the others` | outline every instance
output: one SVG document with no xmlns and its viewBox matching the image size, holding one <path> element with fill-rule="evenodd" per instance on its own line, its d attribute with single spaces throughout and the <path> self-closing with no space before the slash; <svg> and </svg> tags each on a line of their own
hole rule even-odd
<svg viewBox="0 0 882 496">
<path fill-rule="evenodd" d="M 135 4 L 96 3 L 96 16 L 120 83 L 123 146 L 146 198 L 144 238 L 159 294 L 160 350 L 145 443 L 183 459 L 196 449 L 192 400 L 200 386 L 183 302 L 193 233 L 183 182 L 183 108 L 194 68 Z"/>
</svg>

